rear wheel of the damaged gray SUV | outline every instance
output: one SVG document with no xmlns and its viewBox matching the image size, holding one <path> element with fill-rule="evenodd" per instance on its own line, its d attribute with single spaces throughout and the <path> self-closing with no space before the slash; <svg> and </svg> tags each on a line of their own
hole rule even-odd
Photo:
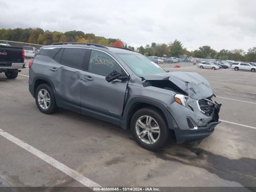
<svg viewBox="0 0 256 192">
<path fill-rule="evenodd" d="M 45 114 L 52 114 L 58 110 L 52 88 L 48 84 L 41 84 L 36 88 L 36 105 Z"/>
</svg>

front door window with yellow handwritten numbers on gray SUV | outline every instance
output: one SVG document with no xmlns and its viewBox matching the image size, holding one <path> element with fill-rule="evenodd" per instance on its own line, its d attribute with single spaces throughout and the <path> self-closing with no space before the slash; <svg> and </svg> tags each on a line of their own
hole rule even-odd
<svg viewBox="0 0 256 192">
<path fill-rule="evenodd" d="M 114 70 L 118 73 L 122 72 L 121 66 L 114 58 L 102 51 L 92 50 L 88 66 L 89 72 L 107 76 Z"/>
</svg>

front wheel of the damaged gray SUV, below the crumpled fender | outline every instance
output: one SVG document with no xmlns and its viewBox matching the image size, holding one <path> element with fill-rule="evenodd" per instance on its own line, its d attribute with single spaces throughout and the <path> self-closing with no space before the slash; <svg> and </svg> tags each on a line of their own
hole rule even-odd
<svg viewBox="0 0 256 192">
<path fill-rule="evenodd" d="M 142 108 L 131 119 L 131 132 L 135 141 L 151 151 L 164 147 L 170 139 L 170 129 L 163 115 L 154 108 Z"/>
</svg>

